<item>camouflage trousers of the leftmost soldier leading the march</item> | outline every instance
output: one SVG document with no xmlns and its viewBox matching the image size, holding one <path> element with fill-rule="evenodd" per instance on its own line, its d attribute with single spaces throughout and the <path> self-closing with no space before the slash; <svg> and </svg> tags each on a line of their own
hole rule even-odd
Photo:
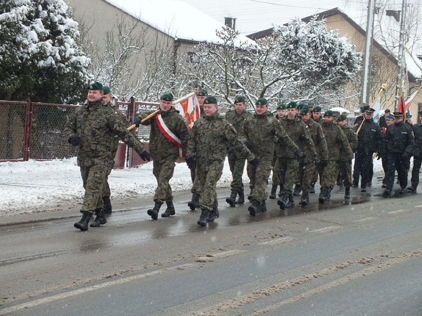
<svg viewBox="0 0 422 316">
<path fill-rule="evenodd" d="M 85 189 L 81 212 L 94 214 L 95 209 L 103 207 L 103 190 L 110 166 L 96 164 L 80 166 L 81 177 Z"/>
</svg>

